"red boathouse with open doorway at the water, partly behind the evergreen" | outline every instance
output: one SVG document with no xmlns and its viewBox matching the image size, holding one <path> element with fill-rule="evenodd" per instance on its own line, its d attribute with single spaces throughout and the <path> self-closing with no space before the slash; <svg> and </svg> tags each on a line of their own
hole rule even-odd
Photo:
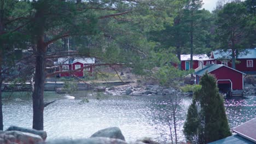
<svg viewBox="0 0 256 144">
<path fill-rule="evenodd" d="M 200 77 L 210 73 L 216 76 L 217 84 L 221 92 L 243 91 L 243 77 L 245 73 L 232 69 L 223 64 L 210 64 L 203 69 L 196 71 L 196 84 L 199 84 Z"/>
</svg>

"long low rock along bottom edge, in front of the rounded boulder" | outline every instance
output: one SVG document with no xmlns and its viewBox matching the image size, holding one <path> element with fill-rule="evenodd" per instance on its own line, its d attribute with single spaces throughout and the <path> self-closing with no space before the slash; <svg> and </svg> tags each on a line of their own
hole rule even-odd
<svg viewBox="0 0 256 144">
<path fill-rule="evenodd" d="M 53 140 L 42 142 L 39 144 L 128 144 L 127 142 L 119 139 L 112 139 L 108 137 L 90 137 L 89 139 L 79 140 Z"/>
</svg>

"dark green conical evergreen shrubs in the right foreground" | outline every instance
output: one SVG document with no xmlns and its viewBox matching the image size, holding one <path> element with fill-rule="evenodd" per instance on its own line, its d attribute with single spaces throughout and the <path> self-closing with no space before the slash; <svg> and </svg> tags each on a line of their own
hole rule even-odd
<svg viewBox="0 0 256 144">
<path fill-rule="evenodd" d="M 208 143 L 230 136 L 223 98 L 218 92 L 215 77 L 204 74 L 200 85 L 202 88 L 194 93 L 193 103 L 188 110 L 184 124 L 185 136 L 188 140 L 199 143 Z M 200 109 L 196 108 L 196 105 L 199 105 Z M 196 115 L 196 112 L 199 115 Z M 200 124 L 197 123 L 197 119 Z"/>
</svg>

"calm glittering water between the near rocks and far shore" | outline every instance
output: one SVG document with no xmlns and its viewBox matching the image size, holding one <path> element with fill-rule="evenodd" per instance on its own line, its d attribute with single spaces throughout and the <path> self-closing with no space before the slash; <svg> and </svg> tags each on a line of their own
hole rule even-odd
<svg viewBox="0 0 256 144">
<path fill-rule="evenodd" d="M 14 93 L 8 100 L 9 95 L 4 93 L 4 129 L 10 125 L 31 128 L 30 94 Z M 166 107 L 163 107 L 168 104 L 166 97 L 108 96 L 84 91 L 72 95 L 75 99 L 63 98 L 65 94 L 45 92 L 45 101 L 58 99 L 44 110 L 44 129 L 48 133 L 48 140 L 89 137 L 107 127 L 119 127 L 127 141 L 143 137 L 158 140 L 170 138 L 167 123 L 159 121 L 169 115 Z M 182 127 L 190 101 L 190 98 L 184 98 L 177 110 L 178 138 L 181 141 L 184 140 Z M 225 100 L 225 105 L 231 128 L 255 117 L 255 96 Z"/>
</svg>

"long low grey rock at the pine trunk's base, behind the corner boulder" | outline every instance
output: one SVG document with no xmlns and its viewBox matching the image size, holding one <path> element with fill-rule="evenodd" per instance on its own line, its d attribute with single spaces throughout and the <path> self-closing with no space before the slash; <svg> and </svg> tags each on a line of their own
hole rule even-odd
<svg viewBox="0 0 256 144">
<path fill-rule="evenodd" d="M 39 135 L 40 137 L 42 137 L 43 140 L 46 140 L 46 137 L 47 137 L 46 131 L 36 130 L 36 129 L 28 129 L 28 128 L 21 128 L 21 127 L 16 127 L 16 126 L 10 126 L 5 131 L 13 131 L 13 130 Z"/>
</svg>

